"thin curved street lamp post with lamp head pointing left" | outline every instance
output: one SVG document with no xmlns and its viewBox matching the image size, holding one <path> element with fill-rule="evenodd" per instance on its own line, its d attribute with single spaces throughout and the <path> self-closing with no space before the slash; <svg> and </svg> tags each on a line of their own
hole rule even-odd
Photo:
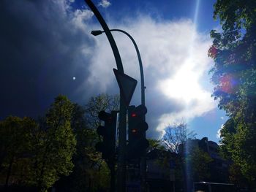
<svg viewBox="0 0 256 192">
<path fill-rule="evenodd" d="M 142 61 L 140 58 L 140 51 L 138 49 L 138 46 L 136 45 L 135 39 L 132 38 L 132 36 L 130 34 L 127 33 L 127 31 L 123 31 L 121 29 L 110 29 L 109 31 L 118 31 L 121 32 L 123 34 L 126 34 L 129 39 L 132 40 L 133 45 L 135 46 L 135 50 L 136 53 L 138 55 L 138 61 L 140 64 L 140 82 L 141 82 L 141 104 L 145 105 L 145 85 L 144 85 L 144 74 L 143 74 L 143 65 L 142 65 Z M 105 31 L 91 31 L 91 34 L 94 36 L 100 35 L 102 33 L 105 33 Z M 143 116 L 143 119 L 146 120 L 146 116 Z M 146 135 L 144 135 L 144 137 L 146 137 Z M 146 191 L 146 151 L 144 152 L 143 156 L 141 157 L 141 161 L 140 161 L 140 167 L 142 168 L 140 170 L 140 175 L 142 178 L 142 191 Z"/>
</svg>

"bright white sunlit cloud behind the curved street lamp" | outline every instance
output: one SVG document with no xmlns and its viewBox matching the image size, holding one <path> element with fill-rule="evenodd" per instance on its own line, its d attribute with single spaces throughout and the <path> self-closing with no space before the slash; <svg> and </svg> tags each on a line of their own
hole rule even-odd
<svg viewBox="0 0 256 192">
<path fill-rule="evenodd" d="M 162 131 L 167 124 L 178 120 L 192 120 L 216 107 L 209 88 L 201 83 L 212 64 L 207 56 L 211 40 L 195 31 L 190 20 L 156 22 L 143 15 L 125 25 L 110 23 L 110 26 L 127 31 L 138 44 L 147 87 L 148 116 L 154 131 Z M 138 58 L 132 42 L 124 34 L 113 32 L 113 35 L 124 72 L 140 80 Z M 108 39 L 105 36 L 95 39 L 97 46 L 89 80 L 91 83 L 100 81 L 97 88 L 107 91 L 111 85 L 116 85 L 110 70 L 116 64 Z M 139 103 L 140 96 L 136 94 L 140 95 L 140 81 L 133 100 Z"/>
</svg>

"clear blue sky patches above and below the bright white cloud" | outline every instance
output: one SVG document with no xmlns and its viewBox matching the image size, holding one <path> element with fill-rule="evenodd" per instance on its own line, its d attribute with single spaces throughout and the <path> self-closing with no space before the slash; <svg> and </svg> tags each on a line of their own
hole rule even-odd
<svg viewBox="0 0 256 192">
<path fill-rule="evenodd" d="M 206 38 L 209 37 L 211 29 L 219 27 L 219 23 L 213 20 L 214 1 L 108 2 L 110 3 L 108 7 L 99 7 L 99 10 L 102 11 L 103 15 L 106 15 L 105 17 L 107 19 L 114 23 L 121 23 L 122 18 L 124 18 L 124 20 L 127 18 L 138 20 L 138 15 L 144 15 L 146 17 L 149 15 L 150 18 L 153 18 L 153 20 L 158 23 L 175 23 L 179 20 L 191 20 L 192 24 L 195 25 L 197 33 L 206 35 Z M 129 30 L 129 27 L 127 28 L 127 30 Z M 171 44 L 172 42 L 169 43 Z M 200 54 L 206 55 L 207 53 L 203 52 Z M 200 85 L 202 85 L 204 90 L 211 92 L 213 90 L 213 85 L 211 85 L 210 78 L 208 71 L 204 71 L 200 79 Z M 172 91 L 168 94 L 172 94 Z M 148 107 L 151 106 L 149 105 Z M 161 106 L 159 105 L 159 107 Z M 225 123 L 226 119 L 225 112 L 218 110 L 217 102 L 215 102 L 214 107 L 211 110 L 205 110 L 205 112 L 195 115 L 192 118 L 187 118 L 186 115 L 181 118 L 174 118 L 174 122 L 177 123 L 180 120 L 184 120 L 188 123 L 189 128 L 197 133 L 197 137 L 208 137 L 208 139 L 217 142 L 217 131 L 222 124 Z M 166 122 L 165 125 L 167 125 Z"/>
</svg>

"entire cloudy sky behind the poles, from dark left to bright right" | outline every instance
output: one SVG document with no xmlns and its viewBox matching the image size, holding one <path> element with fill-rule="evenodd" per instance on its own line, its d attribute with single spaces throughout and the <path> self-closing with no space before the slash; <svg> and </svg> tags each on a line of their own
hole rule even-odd
<svg viewBox="0 0 256 192">
<path fill-rule="evenodd" d="M 197 138 L 218 142 L 227 117 L 211 97 L 207 51 L 214 0 L 94 0 L 109 28 L 127 31 L 143 62 L 147 137 L 159 139 L 185 122 Z M 82 0 L 0 1 L 0 119 L 37 116 L 59 94 L 86 104 L 100 93 L 118 94 L 115 59 L 105 34 Z M 113 32 L 124 73 L 138 80 L 131 104 L 140 104 L 140 70 L 132 42 Z"/>
</svg>

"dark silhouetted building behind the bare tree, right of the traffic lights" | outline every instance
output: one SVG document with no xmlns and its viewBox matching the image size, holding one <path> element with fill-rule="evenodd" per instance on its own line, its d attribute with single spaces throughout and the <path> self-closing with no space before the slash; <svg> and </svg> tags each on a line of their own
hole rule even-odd
<svg viewBox="0 0 256 192">
<path fill-rule="evenodd" d="M 181 163 L 181 159 L 184 158 L 184 155 L 188 155 L 194 147 L 199 147 L 213 159 L 209 164 L 211 176 L 200 181 L 229 183 L 229 162 L 219 155 L 219 145 L 216 142 L 208 141 L 207 137 L 203 137 L 203 139 L 188 139 L 185 145 L 186 147 L 179 146 L 180 153 L 178 154 L 159 149 L 152 149 L 147 153 L 146 183 L 148 192 L 184 191 L 185 185 L 187 185 L 184 175 L 187 173 L 184 172 L 184 164 Z M 128 164 L 127 189 L 128 191 L 140 191 L 139 161 L 130 161 Z"/>
</svg>

